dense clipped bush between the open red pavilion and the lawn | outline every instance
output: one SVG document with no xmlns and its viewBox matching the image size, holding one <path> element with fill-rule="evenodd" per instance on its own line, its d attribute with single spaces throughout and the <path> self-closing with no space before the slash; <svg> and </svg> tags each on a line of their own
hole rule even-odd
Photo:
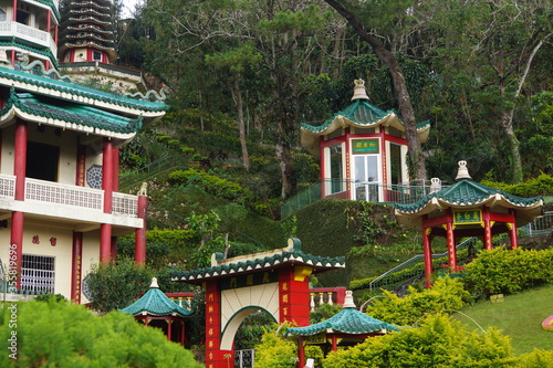
<svg viewBox="0 0 553 368">
<path fill-rule="evenodd" d="M 465 270 L 467 290 L 477 295 L 513 294 L 553 282 L 553 249 L 482 251 Z"/>
</svg>

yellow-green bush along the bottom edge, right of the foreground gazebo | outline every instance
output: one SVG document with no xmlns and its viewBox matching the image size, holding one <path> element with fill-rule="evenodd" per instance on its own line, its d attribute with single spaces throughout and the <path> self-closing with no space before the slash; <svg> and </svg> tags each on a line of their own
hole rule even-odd
<svg viewBox="0 0 553 368">
<path fill-rule="evenodd" d="M 509 338 L 499 332 L 468 332 L 445 315 L 430 315 L 418 328 L 371 337 L 348 350 L 331 353 L 323 367 L 511 367 L 514 361 Z"/>
</svg>

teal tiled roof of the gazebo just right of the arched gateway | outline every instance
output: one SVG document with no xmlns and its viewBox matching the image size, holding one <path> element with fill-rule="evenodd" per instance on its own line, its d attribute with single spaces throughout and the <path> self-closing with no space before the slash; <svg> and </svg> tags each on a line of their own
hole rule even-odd
<svg viewBox="0 0 553 368">
<path fill-rule="evenodd" d="M 326 320 L 305 327 L 290 327 L 286 336 L 310 336 L 322 332 L 352 335 L 378 334 L 384 330 L 399 330 L 397 326 L 373 318 L 355 308 L 344 308 Z"/>
</svg>

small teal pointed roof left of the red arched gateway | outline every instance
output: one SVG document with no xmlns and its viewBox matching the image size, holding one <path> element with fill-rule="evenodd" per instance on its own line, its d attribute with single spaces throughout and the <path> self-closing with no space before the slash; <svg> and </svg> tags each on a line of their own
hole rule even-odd
<svg viewBox="0 0 553 368">
<path fill-rule="evenodd" d="M 167 295 L 159 290 L 157 285 L 157 278 L 152 280 L 152 285 L 149 291 L 144 294 L 135 303 L 131 304 L 126 308 L 119 309 L 123 313 L 131 314 L 133 316 L 174 316 L 174 317 L 188 317 L 192 314 L 191 311 L 182 308 L 177 303 L 173 302 Z"/>
</svg>

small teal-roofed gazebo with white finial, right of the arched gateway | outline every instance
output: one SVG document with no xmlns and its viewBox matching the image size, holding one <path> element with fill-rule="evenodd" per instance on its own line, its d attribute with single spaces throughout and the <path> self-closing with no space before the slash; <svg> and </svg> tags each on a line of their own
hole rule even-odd
<svg viewBox="0 0 553 368">
<path fill-rule="evenodd" d="M 373 318 L 356 309 L 352 292 L 346 292 L 343 309 L 326 320 L 305 327 L 290 327 L 286 338 L 298 339 L 299 367 L 305 365 L 304 344 L 319 345 L 326 356 L 338 346 L 355 346 L 367 337 L 397 332 L 395 325 Z"/>
</svg>

